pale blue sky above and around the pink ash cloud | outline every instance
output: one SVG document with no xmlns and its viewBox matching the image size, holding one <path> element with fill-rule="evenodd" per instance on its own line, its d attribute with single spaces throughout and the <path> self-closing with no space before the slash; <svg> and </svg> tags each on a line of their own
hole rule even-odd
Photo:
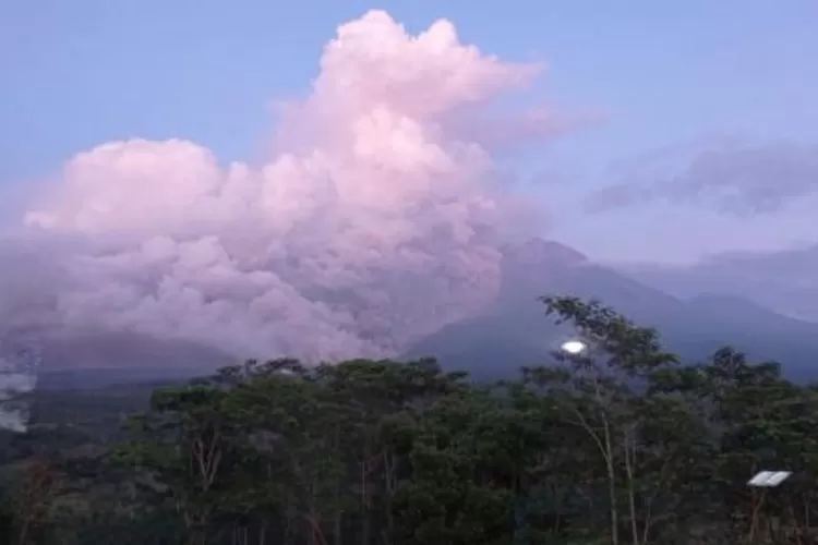
<svg viewBox="0 0 818 545">
<path fill-rule="evenodd" d="M 617 165 L 658 152 L 685 157 L 724 136 L 818 143 L 814 0 L 10 0 L 0 4 L 0 184 L 132 136 L 252 159 L 272 102 L 302 96 L 337 25 L 372 8 L 410 32 L 446 17 L 483 51 L 544 60 L 534 95 L 604 112 L 517 166 L 551 180 L 529 190 L 554 215 L 550 237 L 605 259 L 662 261 L 815 241 L 807 197 L 741 219 L 660 203 L 599 215 L 579 205 L 616 181 Z"/>
</svg>

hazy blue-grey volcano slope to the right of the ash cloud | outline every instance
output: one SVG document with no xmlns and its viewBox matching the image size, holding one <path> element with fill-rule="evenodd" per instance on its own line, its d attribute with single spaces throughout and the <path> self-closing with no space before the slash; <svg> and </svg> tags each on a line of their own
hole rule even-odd
<svg viewBox="0 0 818 545">
<path fill-rule="evenodd" d="M 556 294 L 597 299 L 639 325 L 655 327 L 667 348 L 688 360 L 731 344 L 750 358 L 781 361 L 792 376 L 818 375 L 813 372 L 818 368 L 818 324 L 775 314 L 742 298 L 685 301 L 543 240 L 508 247 L 503 275 L 501 294 L 489 312 L 444 328 L 408 355 L 434 354 L 444 365 L 483 376 L 545 362 L 572 334 L 544 317 L 537 301 Z"/>
</svg>

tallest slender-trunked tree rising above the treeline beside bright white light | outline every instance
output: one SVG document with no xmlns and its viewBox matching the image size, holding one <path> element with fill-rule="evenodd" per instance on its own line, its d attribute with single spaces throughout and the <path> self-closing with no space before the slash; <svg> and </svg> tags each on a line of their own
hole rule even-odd
<svg viewBox="0 0 818 545">
<path fill-rule="evenodd" d="M 647 543 L 653 507 L 648 498 L 654 495 L 646 489 L 639 473 L 654 467 L 657 456 L 664 458 L 663 467 L 670 452 L 643 441 L 651 410 L 662 405 L 642 392 L 649 390 L 657 372 L 675 366 L 677 360 L 662 350 L 654 329 L 637 327 L 599 302 L 576 298 L 544 298 L 543 302 L 548 314 L 555 315 L 557 323 L 574 326 L 589 349 L 578 354 L 557 352 L 557 361 L 567 365 L 540 368 L 531 375 L 560 400 L 566 422 L 587 435 L 602 459 L 612 545 L 618 545 L 622 526 L 619 485 L 624 487 L 630 542 Z M 654 475 L 660 476 L 661 471 Z M 654 482 L 653 486 L 661 484 Z"/>
</svg>

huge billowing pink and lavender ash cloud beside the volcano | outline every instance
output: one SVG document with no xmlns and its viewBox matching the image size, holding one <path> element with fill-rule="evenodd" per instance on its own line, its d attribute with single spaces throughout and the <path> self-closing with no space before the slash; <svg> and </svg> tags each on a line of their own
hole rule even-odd
<svg viewBox="0 0 818 545">
<path fill-rule="evenodd" d="M 492 106 L 539 70 L 372 11 L 338 28 L 263 165 L 182 140 L 80 153 L 0 249 L 4 334 L 61 365 L 97 347 L 146 364 L 151 342 L 176 347 L 165 359 L 399 354 L 491 301 L 497 249 L 529 227 L 480 128 L 504 148 L 562 129 Z"/>
</svg>

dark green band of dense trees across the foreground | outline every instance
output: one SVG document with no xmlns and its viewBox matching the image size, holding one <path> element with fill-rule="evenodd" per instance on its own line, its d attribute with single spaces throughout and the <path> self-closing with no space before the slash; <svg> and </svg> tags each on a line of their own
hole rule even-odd
<svg viewBox="0 0 818 545">
<path fill-rule="evenodd" d="M 431 360 L 249 362 L 157 389 L 121 432 L 144 392 L 100 396 L 105 425 L 50 398 L 62 421 L 5 438 L 0 543 L 818 543 L 818 388 L 545 304 L 591 350 L 490 386 Z M 794 473 L 747 486 L 763 469 Z"/>
</svg>

